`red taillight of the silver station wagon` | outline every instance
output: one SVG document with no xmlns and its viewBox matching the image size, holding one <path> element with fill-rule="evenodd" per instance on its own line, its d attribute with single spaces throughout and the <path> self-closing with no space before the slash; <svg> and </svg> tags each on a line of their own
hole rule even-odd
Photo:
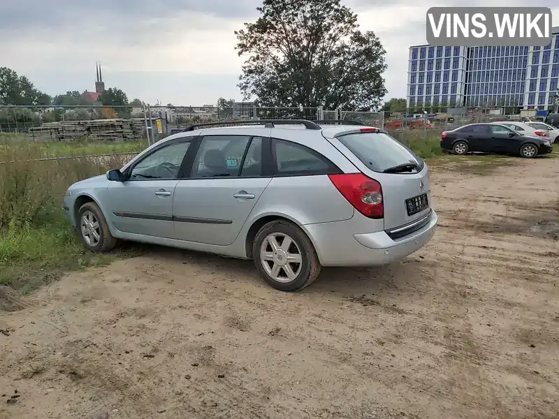
<svg viewBox="0 0 559 419">
<path fill-rule="evenodd" d="M 382 187 L 363 173 L 328 175 L 334 186 L 358 212 L 372 219 L 384 217 Z"/>
</svg>

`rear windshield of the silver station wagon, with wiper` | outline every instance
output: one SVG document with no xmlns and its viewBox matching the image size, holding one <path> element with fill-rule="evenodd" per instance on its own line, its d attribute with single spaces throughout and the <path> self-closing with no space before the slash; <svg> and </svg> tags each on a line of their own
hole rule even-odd
<svg viewBox="0 0 559 419">
<path fill-rule="evenodd" d="M 354 133 L 340 135 L 337 139 L 375 172 L 410 162 L 418 163 L 423 169 L 423 160 L 388 134 Z"/>
</svg>

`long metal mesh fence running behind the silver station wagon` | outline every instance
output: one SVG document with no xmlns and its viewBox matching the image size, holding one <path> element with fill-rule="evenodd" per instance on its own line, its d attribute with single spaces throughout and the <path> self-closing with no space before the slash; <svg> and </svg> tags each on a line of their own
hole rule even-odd
<svg viewBox="0 0 559 419">
<path fill-rule="evenodd" d="M 26 135 L 31 141 L 101 140 L 126 142 L 159 140 L 196 123 L 258 119 L 353 120 L 384 128 L 397 138 L 432 138 L 474 122 L 518 119 L 518 115 L 409 114 L 407 112 L 354 112 L 342 109 L 273 108 L 240 103 L 232 107 L 204 106 L 6 106 L 0 105 L 0 133 Z"/>
</svg>

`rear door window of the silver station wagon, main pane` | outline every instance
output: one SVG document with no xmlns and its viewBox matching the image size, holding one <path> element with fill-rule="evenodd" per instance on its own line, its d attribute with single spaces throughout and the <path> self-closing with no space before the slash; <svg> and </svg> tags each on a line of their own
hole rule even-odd
<svg viewBox="0 0 559 419">
<path fill-rule="evenodd" d="M 249 135 L 208 135 L 202 139 L 191 177 L 237 177 Z"/>
</svg>

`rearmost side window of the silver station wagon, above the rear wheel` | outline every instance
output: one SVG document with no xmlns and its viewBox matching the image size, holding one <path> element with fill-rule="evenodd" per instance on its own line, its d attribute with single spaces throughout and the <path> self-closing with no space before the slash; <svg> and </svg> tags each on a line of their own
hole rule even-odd
<svg viewBox="0 0 559 419">
<path fill-rule="evenodd" d="M 295 142 L 273 139 L 277 175 L 328 175 L 339 169 L 326 157 Z"/>
</svg>

